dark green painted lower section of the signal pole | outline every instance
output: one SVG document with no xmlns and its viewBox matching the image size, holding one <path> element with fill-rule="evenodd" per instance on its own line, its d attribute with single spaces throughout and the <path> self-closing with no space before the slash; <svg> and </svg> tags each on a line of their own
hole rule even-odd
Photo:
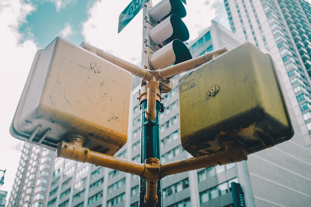
<svg viewBox="0 0 311 207">
<path fill-rule="evenodd" d="M 160 125 L 159 125 L 159 111 L 160 111 L 160 102 L 156 101 L 156 119 L 148 120 L 145 117 L 145 111 L 147 109 L 147 100 L 144 100 L 140 103 L 142 110 L 142 125 L 141 125 L 141 151 L 140 151 L 140 162 L 145 163 L 145 160 L 148 158 L 158 158 L 161 160 L 161 151 L 160 151 Z M 140 178 L 139 181 L 139 207 L 147 206 L 144 201 L 146 194 L 146 181 Z M 161 179 L 157 184 L 157 196 L 158 203 L 156 207 L 163 206 L 162 199 L 162 181 Z"/>
</svg>

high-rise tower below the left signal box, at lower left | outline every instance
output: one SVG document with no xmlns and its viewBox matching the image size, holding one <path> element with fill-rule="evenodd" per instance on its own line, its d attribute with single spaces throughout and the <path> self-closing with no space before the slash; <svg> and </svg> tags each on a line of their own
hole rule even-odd
<svg viewBox="0 0 311 207">
<path fill-rule="evenodd" d="M 25 143 L 7 207 L 45 207 L 55 152 Z"/>
</svg>

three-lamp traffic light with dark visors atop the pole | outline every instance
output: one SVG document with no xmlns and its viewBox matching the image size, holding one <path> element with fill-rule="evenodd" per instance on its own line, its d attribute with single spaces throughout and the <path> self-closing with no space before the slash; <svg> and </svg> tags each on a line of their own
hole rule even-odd
<svg viewBox="0 0 311 207">
<path fill-rule="evenodd" d="M 189 39 L 189 31 L 181 20 L 186 16 L 183 2 L 162 0 L 154 7 L 147 5 L 149 8 L 144 17 L 145 67 L 158 70 L 191 59 L 191 53 L 183 43 Z M 162 92 L 169 92 L 172 89 L 171 82 L 169 80 L 160 82 L 160 89 Z"/>
</svg>

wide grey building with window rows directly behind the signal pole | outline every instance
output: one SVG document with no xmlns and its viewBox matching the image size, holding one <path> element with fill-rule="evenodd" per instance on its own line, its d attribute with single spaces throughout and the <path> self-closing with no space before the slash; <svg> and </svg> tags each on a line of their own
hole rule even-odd
<svg viewBox="0 0 311 207">
<path fill-rule="evenodd" d="M 223 46 L 229 49 L 243 43 L 215 21 L 189 43 L 193 56 Z M 284 67 L 284 66 L 283 66 Z M 230 70 L 230 69 L 228 69 Z M 288 76 L 280 79 L 288 102 L 295 136 L 288 142 L 249 155 L 248 161 L 193 170 L 162 179 L 165 207 L 233 207 L 231 183 L 239 183 L 245 205 L 307 206 L 311 202 L 310 140 L 303 116 Z M 285 72 L 286 73 L 286 72 Z M 287 73 L 286 73 L 287 74 Z M 161 162 L 191 157 L 179 141 L 178 77 L 174 88 L 162 94 L 165 110 L 160 113 Z M 290 86 L 290 87 L 289 87 Z M 137 101 L 140 79 L 133 77 L 129 135 L 116 156 L 140 162 L 141 110 Z M 277 107 L 277 106 L 276 106 Z M 123 207 L 138 206 L 139 177 L 93 164 L 56 158 L 49 184 L 47 207 Z M 242 193 L 242 194 L 243 194 Z"/>
</svg>

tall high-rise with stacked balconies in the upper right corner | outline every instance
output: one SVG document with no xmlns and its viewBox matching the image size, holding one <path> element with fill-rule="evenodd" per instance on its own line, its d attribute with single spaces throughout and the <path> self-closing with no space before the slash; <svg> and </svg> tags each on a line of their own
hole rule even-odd
<svg viewBox="0 0 311 207">
<path fill-rule="evenodd" d="M 311 6 L 305 0 L 224 0 L 232 31 L 266 48 L 290 79 L 311 134 Z M 311 136 L 311 135 L 310 135 Z"/>
</svg>

